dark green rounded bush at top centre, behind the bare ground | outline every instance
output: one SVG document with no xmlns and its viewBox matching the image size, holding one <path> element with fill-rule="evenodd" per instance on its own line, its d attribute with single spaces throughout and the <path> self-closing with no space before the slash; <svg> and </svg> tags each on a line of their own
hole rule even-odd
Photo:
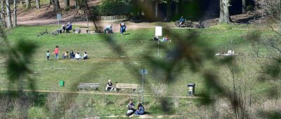
<svg viewBox="0 0 281 119">
<path fill-rule="evenodd" d="M 93 12 L 96 15 L 129 15 L 131 8 L 131 4 L 124 0 L 105 0 L 95 6 Z"/>
</svg>

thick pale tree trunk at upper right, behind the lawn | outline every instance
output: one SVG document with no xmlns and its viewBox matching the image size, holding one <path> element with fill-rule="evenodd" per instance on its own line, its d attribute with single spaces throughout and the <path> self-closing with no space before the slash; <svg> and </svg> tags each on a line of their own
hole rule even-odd
<svg viewBox="0 0 281 119">
<path fill-rule="evenodd" d="M 230 23 L 229 9 L 230 0 L 220 0 L 220 17 L 218 19 L 219 23 Z"/>
</svg>

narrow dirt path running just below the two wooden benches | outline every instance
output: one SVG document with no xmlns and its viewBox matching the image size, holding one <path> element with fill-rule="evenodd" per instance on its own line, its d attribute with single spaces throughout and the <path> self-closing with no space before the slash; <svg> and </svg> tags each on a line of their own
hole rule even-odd
<svg viewBox="0 0 281 119">
<path fill-rule="evenodd" d="M 0 88 L 0 90 L 11 90 L 11 91 L 18 91 L 17 89 L 6 89 Z M 57 90 L 22 90 L 24 92 L 56 92 L 56 93 L 69 93 L 69 94 L 104 94 L 104 95 L 122 95 L 122 96 L 138 96 L 138 94 L 131 94 L 131 93 L 114 93 L 114 92 L 97 92 L 97 91 L 85 91 L 85 92 L 71 92 L 71 91 L 57 91 Z M 153 97 L 152 95 L 143 95 L 144 97 Z M 202 97 L 193 96 L 193 97 L 182 97 L 182 96 L 164 96 L 164 97 L 178 97 L 184 99 L 198 99 Z"/>
</svg>

